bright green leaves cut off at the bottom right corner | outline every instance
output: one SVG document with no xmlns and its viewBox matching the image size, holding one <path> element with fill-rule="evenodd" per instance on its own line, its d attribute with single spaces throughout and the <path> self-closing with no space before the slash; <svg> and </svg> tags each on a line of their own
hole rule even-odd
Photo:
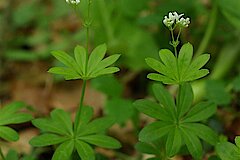
<svg viewBox="0 0 240 160">
<path fill-rule="evenodd" d="M 230 142 L 219 142 L 216 151 L 221 160 L 240 159 L 240 136 L 235 138 L 236 145 Z"/>
</svg>

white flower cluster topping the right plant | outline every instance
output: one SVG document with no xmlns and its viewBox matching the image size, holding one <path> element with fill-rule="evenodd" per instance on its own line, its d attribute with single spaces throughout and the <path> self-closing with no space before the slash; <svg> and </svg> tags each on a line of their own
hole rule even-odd
<svg viewBox="0 0 240 160">
<path fill-rule="evenodd" d="M 177 12 L 169 12 L 168 17 L 165 16 L 163 23 L 168 28 L 173 28 L 174 23 L 180 27 L 188 27 L 190 24 L 190 18 L 183 18 L 184 14 L 179 14 Z"/>
</svg>

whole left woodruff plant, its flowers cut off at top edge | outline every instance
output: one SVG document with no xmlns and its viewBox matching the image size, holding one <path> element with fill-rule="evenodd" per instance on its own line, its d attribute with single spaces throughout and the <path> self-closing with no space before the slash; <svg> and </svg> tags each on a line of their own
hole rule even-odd
<svg viewBox="0 0 240 160">
<path fill-rule="evenodd" d="M 81 4 L 80 0 L 66 0 L 75 11 Z M 119 71 L 117 67 L 110 67 L 120 55 L 112 55 L 105 59 L 107 47 L 105 44 L 96 47 L 89 56 L 89 27 L 91 25 L 90 6 L 88 0 L 88 14 L 84 26 L 87 29 L 86 48 L 76 46 L 74 58 L 63 51 L 53 51 L 52 55 L 62 62 L 65 67 L 52 67 L 48 72 L 64 76 L 66 80 L 83 80 L 82 94 L 74 122 L 69 113 L 61 109 L 51 112 L 49 118 L 39 118 L 32 121 L 33 125 L 41 130 L 41 134 L 34 137 L 30 144 L 35 147 L 57 145 L 52 160 L 69 160 L 72 153 L 77 151 L 82 160 L 94 160 L 95 153 L 91 145 L 116 149 L 121 144 L 114 138 L 104 134 L 114 123 L 110 117 L 91 121 L 93 109 L 83 105 L 86 82 L 89 79 Z"/>
</svg>

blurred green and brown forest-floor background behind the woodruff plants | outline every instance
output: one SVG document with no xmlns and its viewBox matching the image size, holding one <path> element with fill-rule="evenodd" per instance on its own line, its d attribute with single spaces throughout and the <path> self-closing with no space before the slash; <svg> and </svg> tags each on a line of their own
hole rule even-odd
<svg viewBox="0 0 240 160">
<path fill-rule="evenodd" d="M 50 56 L 52 50 L 73 53 L 74 46 L 85 44 L 84 24 L 78 20 L 85 17 L 86 0 L 81 3 L 77 17 L 64 0 L 0 1 L 1 106 L 20 100 L 33 106 L 36 117 L 47 115 L 53 108 L 64 108 L 74 115 L 81 83 L 63 84 L 61 77 L 52 77 L 46 71 L 52 65 L 61 65 Z M 218 113 L 208 123 L 234 142 L 240 134 L 239 0 L 95 0 L 92 7 L 90 47 L 107 43 L 108 55 L 122 54 L 117 64 L 121 72 L 91 81 L 86 91 L 85 103 L 96 106 L 95 117 L 117 117 L 118 125 L 110 134 L 123 143 L 118 152 L 96 148 L 100 159 L 145 157 L 135 151 L 134 144 L 139 130 L 152 119 L 139 114 L 132 101 L 151 95 L 145 58 L 157 59 L 159 49 L 170 47 L 169 32 L 162 24 L 169 11 L 191 18 L 189 29 L 180 37 L 181 44 L 190 41 L 195 55 L 211 54 L 207 64 L 211 74 L 193 83 L 195 101 L 210 99 L 218 105 Z M 174 87 L 168 89 L 175 94 Z M 37 131 L 30 123 L 16 128 L 20 132 L 18 142 L 0 142 L 5 144 L 5 153 L 13 147 L 20 154 L 31 155 L 28 137 Z M 207 152 L 211 151 L 207 146 L 205 151 L 206 157 L 213 153 Z M 34 155 L 47 159 L 51 152 L 47 148 Z"/>
</svg>

